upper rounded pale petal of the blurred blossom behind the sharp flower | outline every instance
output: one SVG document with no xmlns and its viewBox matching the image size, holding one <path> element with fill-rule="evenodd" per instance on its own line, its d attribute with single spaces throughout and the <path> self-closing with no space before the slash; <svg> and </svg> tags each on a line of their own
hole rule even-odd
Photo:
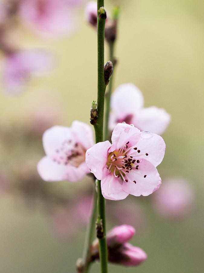
<svg viewBox="0 0 204 273">
<path fill-rule="evenodd" d="M 118 119 L 134 113 L 143 105 L 143 95 L 133 83 L 121 84 L 111 96 L 111 108 Z"/>
</svg>

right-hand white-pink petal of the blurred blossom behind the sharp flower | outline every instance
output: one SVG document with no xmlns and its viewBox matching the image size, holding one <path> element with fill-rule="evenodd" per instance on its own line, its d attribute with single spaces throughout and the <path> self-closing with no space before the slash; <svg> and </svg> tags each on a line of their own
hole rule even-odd
<svg viewBox="0 0 204 273">
<path fill-rule="evenodd" d="M 137 113 L 137 120 L 133 124 L 141 131 L 149 131 L 161 135 L 167 129 L 171 120 L 170 114 L 164 109 L 151 106 L 143 108 Z"/>
</svg>

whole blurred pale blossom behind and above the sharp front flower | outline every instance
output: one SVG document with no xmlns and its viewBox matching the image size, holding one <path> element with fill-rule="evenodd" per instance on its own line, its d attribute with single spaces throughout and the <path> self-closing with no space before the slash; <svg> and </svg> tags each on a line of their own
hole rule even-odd
<svg viewBox="0 0 204 273">
<path fill-rule="evenodd" d="M 125 103 L 124 103 L 125 99 Z M 118 86 L 111 96 L 111 129 L 116 123 L 125 121 L 141 131 L 162 134 L 170 123 L 170 114 L 156 106 L 144 107 L 141 91 L 133 83 Z"/>
</svg>

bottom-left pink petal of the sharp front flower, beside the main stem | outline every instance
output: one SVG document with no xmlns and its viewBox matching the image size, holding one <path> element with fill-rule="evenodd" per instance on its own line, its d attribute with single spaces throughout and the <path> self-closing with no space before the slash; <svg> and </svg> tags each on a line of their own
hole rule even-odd
<svg viewBox="0 0 204 273">
<path fill-rule="evenodd" d="M 108 174 L 108 169 L 104 170 L 104 178 L 101 180 L 101 191 L 105 199 L 122 200 L 129 193 L 122 189 L 122 180 L 113 174 Z"/>
</svg>

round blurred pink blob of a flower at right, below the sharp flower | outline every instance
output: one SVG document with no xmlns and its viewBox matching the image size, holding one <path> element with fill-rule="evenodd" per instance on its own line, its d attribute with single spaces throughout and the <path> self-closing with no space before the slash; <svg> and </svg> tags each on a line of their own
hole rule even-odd
<svg viewBox="0 0 204 273">
<path fill-rule="evenodd" d="M 192 185 L 183 178 L 169 178 L 153 195 L 155 210 L 164 217 L 178 219 L 188 215 L 193 207 Z"/>
</svg>

